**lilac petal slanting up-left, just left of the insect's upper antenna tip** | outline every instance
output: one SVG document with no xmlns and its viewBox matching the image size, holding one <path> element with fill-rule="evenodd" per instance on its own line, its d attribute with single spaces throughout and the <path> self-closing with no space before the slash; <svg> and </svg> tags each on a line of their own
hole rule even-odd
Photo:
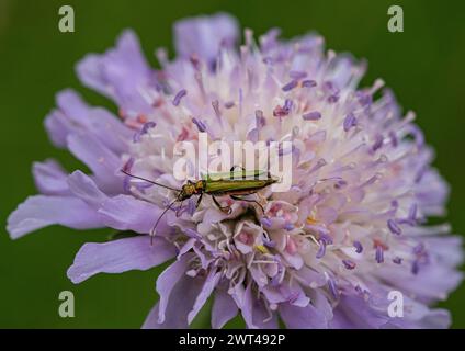
<svg viewBox="0 0 465 351">
<path fill-rule="evenodd" d="M 84 162 L 95 174 L 95 181 L 105 192 L 121 192 L 122 179 L 115 177 L 121 160 L 107 149 L 99 139 L 87 134 L 68 136 L 69 150 Z"/>
</svg>

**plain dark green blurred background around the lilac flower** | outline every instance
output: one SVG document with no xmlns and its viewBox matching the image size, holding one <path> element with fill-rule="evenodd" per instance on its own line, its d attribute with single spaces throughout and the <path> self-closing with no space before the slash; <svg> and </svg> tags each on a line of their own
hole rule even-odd
<svg viewBox="0 0 465 351">
<path fill-rule="evenodd" d="M 76 32 L 58 31 L 58 9 L 70 4 Z M 387 31 L 387 9 L 404 8 L 405 32 Z M 69 170 L 80 167 L 67 152 L 52 147 L 43 121 L 54 95 L 72 87 L 93 104 L 114 110 L 109 101 L 82 88 L 73 66 L 89 52 L 112 46 L 125 27 L 133 27 L 155 65 L 154 48 L 172 53 L 173 21 L 227 11 L 256 34 L 279 26 L 285 37 L 316 30 L 327 46 L 368 60 L 364 83 L 382 77 L 418 124 L 439 158 L 435 166 L 452 185 L 447 220 L 465 234 L 464 1 L 250 1 L 250 0 L 0 0 L 1 200 L 0 327 L 3 328 L 138 328 L 156 302 L 159 269 L 120 275 L 98 275 L 73 285 L 66 278 L 79 247 L 103 241 L 107 230 L 75 231 L 48 227 L 18 241 L 4 230 L 7 217 L 35 189 L 34 160 L 59 159 Z M 462 155 L 462 156 L 461 156 Z M 60 291 L 76 297 L 76 317 L 60 318 Z M 453 327 L 465 327 L 464 286 L 441 303 L 451 309 Z M 204 308 L 194 327 L 208 327 Z M 229 326 L 241 327 L 236 319 Z"/>
</svg>

